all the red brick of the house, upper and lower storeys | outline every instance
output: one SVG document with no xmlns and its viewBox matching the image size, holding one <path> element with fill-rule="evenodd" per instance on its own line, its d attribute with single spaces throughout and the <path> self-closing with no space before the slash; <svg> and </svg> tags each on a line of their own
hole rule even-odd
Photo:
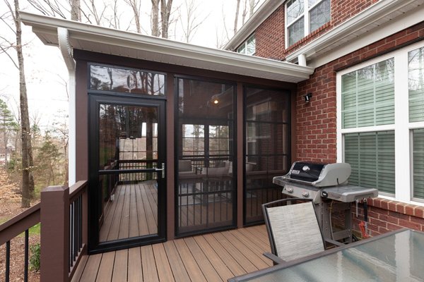
<svg viewBox="0 0 424 282">
<path fill-rule="evenodd" d="M 281 5 L 255 32 L 257 56 L 283 60 L 287 54 L 355 16 L 378 0 L 331 1 L 331 21 L 304 39 L 285 49 L 284 5 Z M 309 80 L 298 84 L 295 99 L 295 159 L 322 162 L 336 161 L 336 72 L 368 59 L 424 39 L 424 22 L 390 37 L 353 51 L 340 59 L 315 69 Z M 305 103 L 303 96 L 312 93 Z M 368 202 L 368 228 L 377 235 L 401 227 L 424 231 L 424 207 L 376 198 Z M 353 205 L 353 229 L 360 234 L 363 209 L 358 217 Z"/>
</svg>

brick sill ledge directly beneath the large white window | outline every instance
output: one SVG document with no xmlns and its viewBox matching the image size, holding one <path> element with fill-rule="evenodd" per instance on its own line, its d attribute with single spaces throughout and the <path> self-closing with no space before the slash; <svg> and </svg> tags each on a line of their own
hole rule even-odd
<svg viewBox="0 0 424 282">
<path fill-rule="evenodd" d="M 387 209 L 391 212 L 399 212 L 399 214 L 406 214 L 408 216 L 416 216 L 420 219 L 424 219 L 424 207 L 417 206 L 416 204 L 406 204 L 382 198 L 372 198 L 369 199 L 367 203 L 372 207 Z"/>
</svg>

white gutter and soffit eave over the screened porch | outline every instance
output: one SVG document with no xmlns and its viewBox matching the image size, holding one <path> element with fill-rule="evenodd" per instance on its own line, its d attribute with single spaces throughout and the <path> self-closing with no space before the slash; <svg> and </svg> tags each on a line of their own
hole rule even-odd
<svg viewBox="0 0 424 282">
<path fill-rule="evenodd" d="M 25 25 L 33 27 L 33 32 L 47 45 L 57 46 L 57 27 L 64 27 L 69 32 L 69 42 L 74 49 L 284 82 L 300 82 L 308 79 L 314 72 L 313 68 L 294 63 L 200 47 L 71 20 L 25 12 L 20 12 L 20 17 Z"/>
</svg>

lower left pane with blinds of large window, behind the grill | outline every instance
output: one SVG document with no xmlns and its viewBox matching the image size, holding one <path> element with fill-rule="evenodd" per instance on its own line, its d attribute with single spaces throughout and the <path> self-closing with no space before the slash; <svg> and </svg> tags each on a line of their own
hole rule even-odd
<svg viewBox="0 0 424 282">
<path fill-rule="evenodd" d="M 349 183 L 394 195 L 394 131 L 348 133 L 344 143 Z"/>
</svg>

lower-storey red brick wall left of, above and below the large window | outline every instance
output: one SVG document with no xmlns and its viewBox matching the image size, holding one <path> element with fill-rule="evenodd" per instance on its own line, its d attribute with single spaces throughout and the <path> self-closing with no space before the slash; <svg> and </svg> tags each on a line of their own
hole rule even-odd
<svg viewBox="0 0 424 282">
<path fill-rule="evenodd" d="M 424 22 L 331 61 L 317 68 L 310 80 L 300 82 L 295 101 L 296 159 L 336 161 L 336 71 L 423 39 Z M 309 103 L 303 99 L 307 93 L 313 95 Z M 368 206 L 370 235 L 401 227 L 424 231 L 424 207 L 381 198 L 370 200 Z M 358 218 L 355 215 L 353 206 L 353 229 L 360 233 L 363 209 L 359 209 Z"/>
</svg>

